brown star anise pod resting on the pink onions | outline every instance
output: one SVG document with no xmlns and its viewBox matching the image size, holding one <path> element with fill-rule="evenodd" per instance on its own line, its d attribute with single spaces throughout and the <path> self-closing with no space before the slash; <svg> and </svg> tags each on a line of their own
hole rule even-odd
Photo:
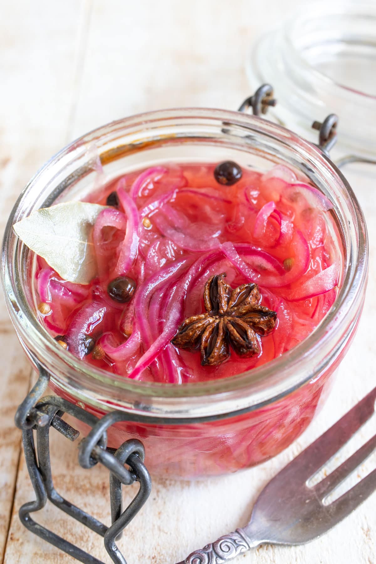
<svg viewBox="0 0 376 564">
<path fill-rule="evenodd" d="M 207 280 L 204 288 L 206 312 L 185 319 L 172 339 L 179 349 L 201 350 L 201 364 L 216 365 L 230 355 L 230 345 L 240 356 L 260 352 L 256 337 L 275 328 L 277 314 L 260 305 L 257 284 L 233 289 L 225 282 L 225 272 Z"/>
</svg>

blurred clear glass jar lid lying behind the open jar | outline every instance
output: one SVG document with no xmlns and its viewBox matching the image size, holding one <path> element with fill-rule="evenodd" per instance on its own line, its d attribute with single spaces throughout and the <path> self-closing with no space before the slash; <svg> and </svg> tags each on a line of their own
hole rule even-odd
<svg viewBox="0 0 376 564">
<path fill-rule="evenodd" d="M 339 116 L 338 149 L 376 155 L 376 5 L 311 2 L 252 48 L 252 87 L 269 82 L 282 125 L 307 135 L 314 120 Z"/>
</svg>

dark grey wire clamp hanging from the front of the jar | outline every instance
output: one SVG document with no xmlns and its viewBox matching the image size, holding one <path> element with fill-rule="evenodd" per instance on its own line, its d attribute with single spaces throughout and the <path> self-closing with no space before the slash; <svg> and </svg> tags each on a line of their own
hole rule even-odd
<svg viewBox="0 0 376 564">
<path fill-rule="evenodd" d="M 144 446 L 139 440 L 130 439 L 117 450 L 107 448 L 107 429 L 116 421 L 126 420 L 126 414 L 113 411 L 99 420 L 98 417 L 91 415 L 85 409 L 74 406 L 63 398 L 46 396 L 40 399 L 47 388 L 49 378 L 50 374 L 40 367 L 36 385 L 20 404 L 15 416 L 16 425 L 23 431 L 26 465 L 36 493 L 35 501 L 29 501 L 21 506 L 19 510 L 21 522 L 29 531 L 78 561 L 87 564 L 103 564 L 98 558 L 91 556 L 46 527 L 39 525 L 30 517 L 31 513 L 42 509 L 48 499 L 70 517 L 103 536 L 105 548 L 114 563 L 126 564 L 126 559 L 118 549 L 116 540 L 120 538 L 123 529 L 139 512 L 151 492 L 151 478 L 144 465 Z M 92 468 L 100 462 L 110 471 L 112 517 L 110 527 L 65 500 L 55 490 L 50 461 L 50 429 L 53 427 L 72 441 L 76 440 L 79 435 L 76 429 L 73 429 L 61 418 L 64 413 L 76 417 L 92 428 L 79 445 L 79 464 L 83 468 Z M 36 442 L 34 442 L 34 430 L 36 431 Z M 122 486 L 134 482 L 139 482 L 139 491 L 129 506 L 123 510 Z"/>
</svg>

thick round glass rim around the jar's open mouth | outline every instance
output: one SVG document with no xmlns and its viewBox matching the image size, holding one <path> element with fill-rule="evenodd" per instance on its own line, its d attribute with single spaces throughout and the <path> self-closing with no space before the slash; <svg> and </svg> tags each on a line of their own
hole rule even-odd
<svg viewBox="0 0 376 564">
<path fill-rule="evenodd" d="M 349 217 L 352 215 L 355 218 L 351 226 L 353 233 L 348 253 L 351 260 L 348 260 L 344 271 L 342 287 L 331 310 L 306 340 L 284 355 L 249 372 L 231 378 L 183 385 L 140 382 L 116 376 L 76 359 L 57 345 L 28 304 L 19 263 L 20 248 L 23 244 L 20 245 L 12 230 L 12 225 L 23 215 L 25 200 L 30 197 L 33 188 L 35 191 L 37 183 L 43 182 L 44 177 L 53 177 L 58 166 L 67 167 L 70 152 L 82 151 L 82 148 L 92 146 L 93 140 L 98 143 L 100 139 L 108 138 L 119 130 L 125 134 L 127 131 L 137 131 L 139 136 L 144 131 L 154 139 L 157 134 L 159 139 L 158 130 L 162 127 L 160 124 L 169 124 L 169 130 L 171 127 L 173 130 L 178 127 L 178 120 L 189 125 L 193 125 L 194 120 L 204 120 L 205 123 L 213 124 L 213 127 L 225 124 L 233 130 L 241 131 L 241 142 L 245 147 L 249 146 L 250 136 L 264 135 L 266 138 L 276 139 L 286 147 L 299 149 L 300 158 L 306 158 L 310 165 L 315 167 L 317 174 L 321 170 L 322 174 L 327 174 L 328 178 L 338 183 L 340 193 L 335 197 L 345 201 L 346 209 L 350 210 Z M 220 131 L 223 135 L 229 135 L 223 127 Z M 184 137 L 178 136 L 183 142 Z M 367 265 L 368 244 L 364 216 L 347 180 L 329 158 L 319 148 L 284 127 L 239 112 L 210 108 L 177 108 L 137 114 L 99 127 L 69 144 L 52 157 L 25 187 L 8 219 L 2 244 L 2 281 L 12 322 L 26 352 L 29 352 L 32 358 L 34 355 L 38 359 L 42 357 L 43 366 L 47 371 L 51 371 L 53 378 L 55 376 L 51 366 L 69 372 L 69 381 L 56 380 L 56 384 L 62 389 L 65 387 L 67 390 L 75 390 L 77 397 L 89 398 L 112 409 L 136 409 L 150 415 L 168 415 L 172 418 L 181 418 L 187 413 L 190 417 L 215 417 L 223 413 L 256 409 L 285 396 L 310 380 L 312 363 L 316 363 L 316 373 L 322 372 L 343 344 L 342 324 L 346 325 L 349 319 L 353 325 L 356 324 L 357 319 L 354 316 L 359 314 L 360 296 L 366 284 Z M 319 350 L 320 355 L 317 355 Z M 316 362 L 317 358 L 321 359 L 320 363 Z M 281 377 L 278 376 L 280 374 Z"/>
</svg>

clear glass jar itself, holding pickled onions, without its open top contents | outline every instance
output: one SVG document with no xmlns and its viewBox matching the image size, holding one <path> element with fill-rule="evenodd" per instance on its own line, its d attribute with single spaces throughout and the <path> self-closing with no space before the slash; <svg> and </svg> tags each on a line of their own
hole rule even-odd
<svg viewBox="0 0 376 564">
<path fill-rule="evenodd" d="M 116 376 L 67 354 L 39 323 L 28 283 L 32 254 L 12 224 L 55 202 L 81 199 L 98 181 L 166 161 L 232 159 L 267 171 L 287 164 L 332 202 L 343 246 L 342 286 L 330 312 L 298 346 L 252 371 L 199 384 L 157 384 Z M 117 409 L 137 422 L 108 430 L 109 446 L 145 444 L 154 475 L 197 478 L 235 472 L 276 455 L 307 427 L 360 318 L 368 271 L 362 211 L 351 187 L 319 148 L 269 121 L 238 112 L 176 109 L 101 127 L 63 149 L 21 193 L 2 247 L 6 303 L 17 336 L 50 387 L 101 416 Z"/>
</svg>

